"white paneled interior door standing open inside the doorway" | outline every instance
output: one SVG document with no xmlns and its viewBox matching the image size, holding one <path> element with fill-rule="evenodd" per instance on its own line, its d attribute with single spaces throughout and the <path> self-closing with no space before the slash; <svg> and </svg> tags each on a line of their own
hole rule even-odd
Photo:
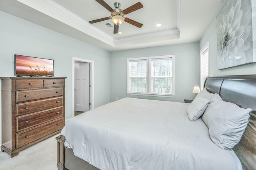
<svg viewBox="0 0 256 170">
<path fill-rule="evenodd" d="M 89 63 L 75 63 L 75 111 L 88 111 L 90 108 L 89 68 Z"/>
</svg>

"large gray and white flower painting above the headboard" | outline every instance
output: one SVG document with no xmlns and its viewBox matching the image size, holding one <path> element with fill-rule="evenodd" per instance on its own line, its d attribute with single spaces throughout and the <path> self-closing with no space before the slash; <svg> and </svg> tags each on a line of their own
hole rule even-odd
<svg viewBox="0 0 256 170">
<path fill-rule="evenodd" d="M 216 25 L 218 69 L 254 62 L 252 0 L 227 0 Z"/>
</svg>

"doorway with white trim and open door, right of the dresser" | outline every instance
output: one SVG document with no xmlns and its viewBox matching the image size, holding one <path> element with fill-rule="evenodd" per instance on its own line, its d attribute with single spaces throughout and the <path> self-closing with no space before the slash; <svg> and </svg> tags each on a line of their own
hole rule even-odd
<svg viewBox="0 0 256 170">
<path fill-rule="evenodd" d="M 94 61 L 72 58 L 72 117 L 94 108 Z"/>
</svg>

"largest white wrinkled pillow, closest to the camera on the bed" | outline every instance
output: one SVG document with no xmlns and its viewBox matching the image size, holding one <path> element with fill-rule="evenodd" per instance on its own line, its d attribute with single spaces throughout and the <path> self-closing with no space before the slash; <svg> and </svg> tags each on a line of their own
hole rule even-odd
<svg viewBox="0 0 256 170">
<path fill-rule="evenodd" d="M 232 149 L 241 139 L 252 109 L 212 100 L 202 117 L 212 141 L 222 149 Z"/>
</svg>

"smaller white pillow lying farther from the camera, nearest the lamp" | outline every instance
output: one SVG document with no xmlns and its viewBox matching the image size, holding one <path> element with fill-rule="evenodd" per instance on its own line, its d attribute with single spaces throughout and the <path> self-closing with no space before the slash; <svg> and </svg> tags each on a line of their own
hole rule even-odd
<svg viewBox="0 0 256 170">
<path fill-rule="evenodd" d="M 203 97 L 195 98 L 187 108 L 188 119 L 190 121 L 197 120 L 204 113 L 209 102 L 209 99 Z"/>
</svg>

